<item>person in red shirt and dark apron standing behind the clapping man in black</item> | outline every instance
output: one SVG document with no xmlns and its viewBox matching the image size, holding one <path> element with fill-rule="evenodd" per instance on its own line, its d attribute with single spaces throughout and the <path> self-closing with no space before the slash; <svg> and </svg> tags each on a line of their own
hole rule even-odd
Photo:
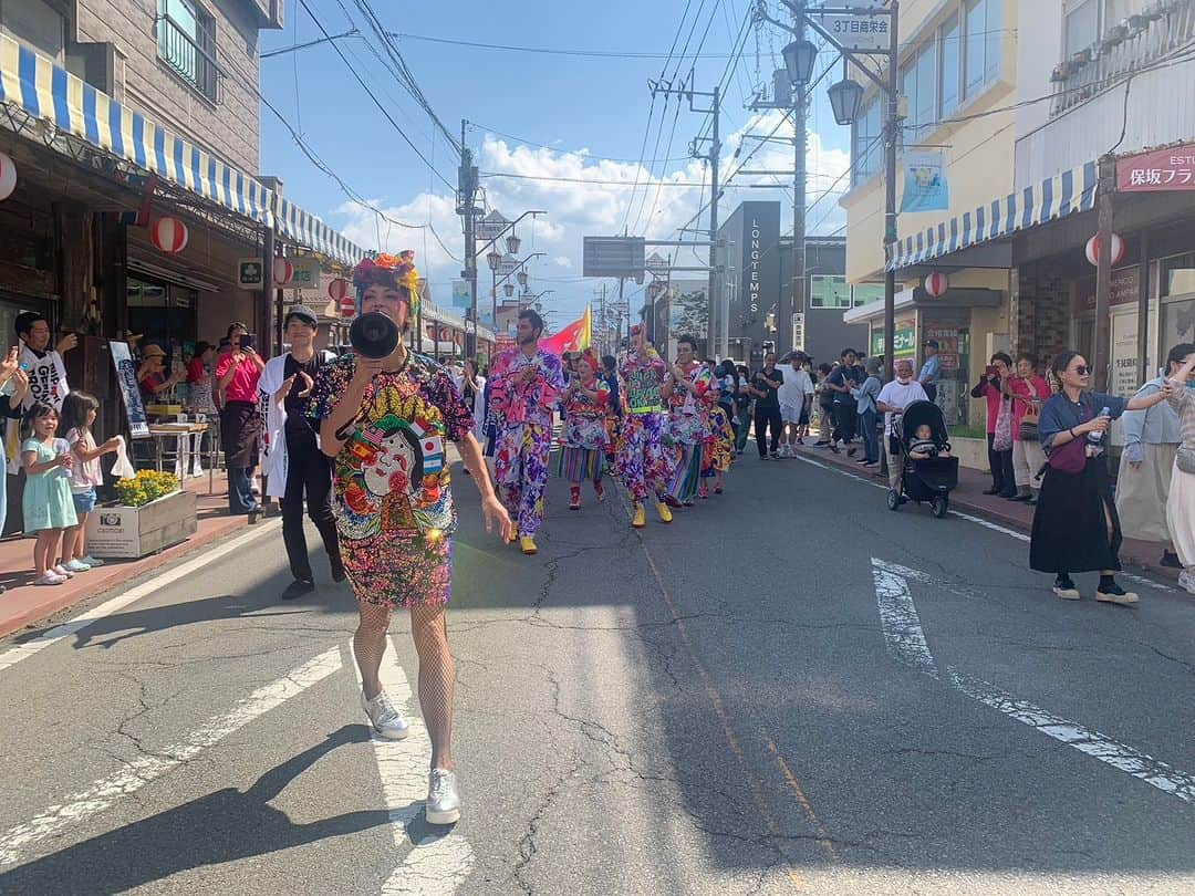
<svg viewBox="0 0 1195 896">
<path fill-rule="evenodd" d="M 252 339 L 245 339 L 249 327 L 240 321 L 228 327 L 232 351 L 216 364 L 216 383 L 223 394 L 220 412 L 220 438 L 225 466 L 228 468 L 228 513 L 249 514 L 257 522 L 261 505 L 253 497 L 250 473 L 257 466 L 262 421 L 257 412 L 257 381 L 265 362 Z"/>
</svg>

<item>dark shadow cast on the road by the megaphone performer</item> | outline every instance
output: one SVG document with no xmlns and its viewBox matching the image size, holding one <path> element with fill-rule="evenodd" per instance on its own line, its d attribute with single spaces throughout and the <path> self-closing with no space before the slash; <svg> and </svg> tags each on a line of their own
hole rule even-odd
<svg viewBox="0 0 1195 896">
<path fill-rule="evenodd" d="M 165 812 L 20 865 L 0 874 L 0 892 L 117 894 L 171 874 L 265 855 L 390 823 L 384 809 L 295 824 L 269 802 L 323 756 L 367 743 L 363 725 L 345 725 L 265 772 L 247 791 L 209 793 Z"/>
</svg>

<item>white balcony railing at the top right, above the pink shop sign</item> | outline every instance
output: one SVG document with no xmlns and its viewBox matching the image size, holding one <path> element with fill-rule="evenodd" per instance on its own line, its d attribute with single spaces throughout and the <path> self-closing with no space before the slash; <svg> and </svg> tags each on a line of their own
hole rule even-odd
<svg viewBox="0 0 1195 896">
<path fill-rule="evenodd" d="M 1080 105 L 1123 76 L 1195 43 L 1195 0 L 1145 0 L 1140 10 L 1055 66 L 1050 116 Z"/>
</svg>

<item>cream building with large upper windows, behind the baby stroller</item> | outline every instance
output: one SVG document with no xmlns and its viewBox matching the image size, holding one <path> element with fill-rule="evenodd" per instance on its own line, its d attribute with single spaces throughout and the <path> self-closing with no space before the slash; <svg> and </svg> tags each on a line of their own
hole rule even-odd
<svg viewBox="0 0 1195 896">
<path fill-rule="evenodd" d="M 954 216 L 967 215 L 968 228 L 983 227 L 986 221 L 973 220 L 972 213 L 992 196 L 1012 192 L 1018 22 L 1018 5 L 1012 0 L 946 0 L 902 7 L 899 82 L 903 118 L 897 139 L 897 209 L 906 204 L 905 162 L 914 151 L 943 154 L 948 200 L 945 208 L 900 211 L 901 240 L 924 234 Z M 954 424 L 981 421 L 981 409 L 972 405 L 967 393 L 991 352 L 1010 345 L 1011 254 L 1005 248 L 985 247 L 967 256 L 934 259 L 933 265 L 914 252 L 899 263 L 885 257 L 884 98 L 870 80 L 856 78 L 869 88 L 852 125 L 851 189 L 840 200 L 847 214 L 846 280 L 864 286 L 876 301 L 852 308 L 845 319 L 866 324 L 870 352 L 885 354 L 883 293 L 871 284 L 882 283 L 887 268 L 895 269 L 893 354 L 920 363 L 923 343 L 937 339 L 945 361 L 939 404 L 948 419 Z M 934 271 L 946 274 L 949 280 L 949 289 L 939 299 L 931 297 L 921 286 Z"/>
</svg>

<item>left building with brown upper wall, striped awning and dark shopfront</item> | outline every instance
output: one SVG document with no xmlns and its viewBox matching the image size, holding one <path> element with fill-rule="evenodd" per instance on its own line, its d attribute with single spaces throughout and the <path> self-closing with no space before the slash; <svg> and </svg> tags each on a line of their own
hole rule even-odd
<svg viewBox="0 0 1195 896">
<path fill-rule="evenodd" d="M 240 320 L 276 350 L 294 293 L 272 288 L 272 257 L 332 272 L 363 254 L 259 174 L 258 31 L 281 23 L 280 0 L 0 4 L 0 153 L 17 172 L 0 201 L 0 330 L 11 343 L 16 315 L 38 311 L 80 336 L 68 380 L 100 399 L 105 437 L 125 429 L 110 340 L 143 333 L 182 364 Z M 163 219 L 184 247 L 153 244 Z M 266 272 L 256 287 L 246 259 Z M 18 478 L 7 486 L 19 529 Z"/>
</svg>

